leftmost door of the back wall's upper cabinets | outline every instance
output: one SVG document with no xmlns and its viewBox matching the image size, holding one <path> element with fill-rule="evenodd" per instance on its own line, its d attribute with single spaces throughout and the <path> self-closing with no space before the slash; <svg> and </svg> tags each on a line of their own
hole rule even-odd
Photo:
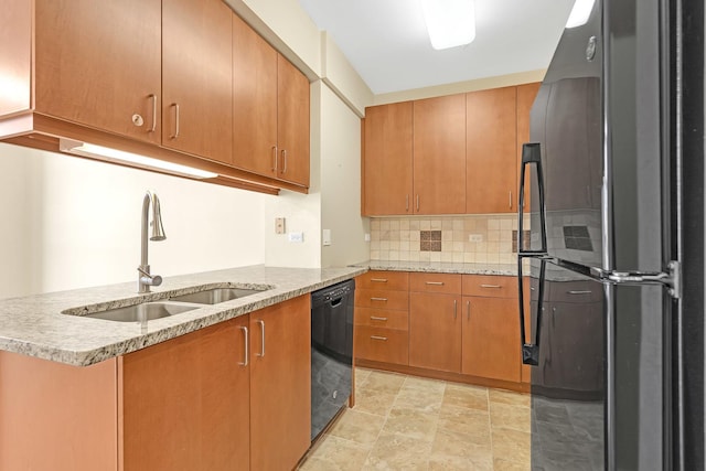
<svg viewBox="0 0 706 471">
<path fill-rule="evenodd" d="M 411 101 L 365 109 L 363 214 L 413 214 Z"/>
</svg>

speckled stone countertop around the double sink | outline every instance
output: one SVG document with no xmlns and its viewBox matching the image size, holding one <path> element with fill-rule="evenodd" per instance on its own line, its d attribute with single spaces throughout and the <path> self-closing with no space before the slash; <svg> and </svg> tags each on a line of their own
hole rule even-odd
<svg viewBox="0 0 706 471">
<path fill-rule="evenodd" d="M 367 271 L 345 268 L 252 266 L 164 277 L 152 292 L 138 295 L 137 281 L 0 300 L 0 350 L 87 366 L 189 332 L 276 304 Z M 197 286 L 270 287 L 218 304 L 146 322 L 82 318 L 100 310 L 164 300 Z M 84 307 L 86 307 L 84 309 Z M 64 314 L 62 311 L 77 315 Z"/>
</svg>

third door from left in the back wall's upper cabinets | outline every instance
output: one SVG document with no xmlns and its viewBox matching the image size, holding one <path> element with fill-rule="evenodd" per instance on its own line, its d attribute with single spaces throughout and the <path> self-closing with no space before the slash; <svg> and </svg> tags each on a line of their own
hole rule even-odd
<svg viewBox="0 0 706 471">
<path fill-rule="evenodd" d="M 466 95 L 467 213 L 517 211 L 516 89 Z"/>
</svg>

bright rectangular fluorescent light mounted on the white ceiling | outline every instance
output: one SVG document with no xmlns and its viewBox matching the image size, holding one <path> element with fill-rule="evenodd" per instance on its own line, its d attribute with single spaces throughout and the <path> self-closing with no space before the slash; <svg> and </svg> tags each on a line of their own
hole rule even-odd
<svg viewBox="0 0 706 471">
<path fill-rule="evenodd" d="M 475 39 L 473 0 L 422 0 L 421 4 L 431 47 L 456 47 Z"/>
</svg>

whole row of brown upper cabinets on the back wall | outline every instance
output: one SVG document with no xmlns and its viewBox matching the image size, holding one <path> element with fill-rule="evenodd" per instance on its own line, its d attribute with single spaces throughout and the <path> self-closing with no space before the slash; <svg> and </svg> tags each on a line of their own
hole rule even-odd
<svg viewBox="0 0 706 471">
<path fill-rule="evenodd" d="M 538 87 L 366 108 L 363 214 L 516 212 L 520 154 Z"/>
</svg>

